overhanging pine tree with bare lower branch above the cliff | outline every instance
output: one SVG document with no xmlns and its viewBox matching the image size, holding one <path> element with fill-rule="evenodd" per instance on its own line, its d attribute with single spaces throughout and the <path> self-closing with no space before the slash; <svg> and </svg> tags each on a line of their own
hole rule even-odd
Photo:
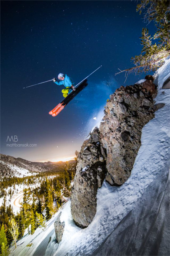
<svg viewBox="0 0 170 256">
<path fill-rule="evenodd" d="M 132 57 L 131 60 L 135 64 L 133 68 L 125 69 L 121 72 L 126 72 L 126 78 L 129 72 L 139 73 L 144 71 L 155 71 L 164 64 L 166 57 L 170 55 L 170 15 L 168 0 L 141 0 L 141 3 L 137 5 L 137 11 L 142 13 L 144 10 L 144 20 L 147 23 L 154 22 L 156 32 L 154 36 L 149 35 L 147 28 L 142 28 L 141 54 Z M 152 43 L 153 40 L 157 40 L 156 43 Z"/>
</svg>

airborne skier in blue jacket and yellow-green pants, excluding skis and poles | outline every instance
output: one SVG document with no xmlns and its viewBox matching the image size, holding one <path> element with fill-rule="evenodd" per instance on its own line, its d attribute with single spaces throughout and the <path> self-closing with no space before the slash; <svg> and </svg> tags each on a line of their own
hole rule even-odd
<svg viewBox="0 0 170 256">
<path fill-rule="evenodd" d="M 73 83 L 72 79 L 68 75 L 59 73 L 58 80 L 60 80 L 60 82 L 58 82 L 57 79 L 54 78 L 53 82 L 56 83 L 57 85 L 65 86 L 65 89 L 61 91 L 63 93 L 63 97 L 67 97 L 70 94 L 70 92 L 76 90 L 75 83 Z"/>
</svg>

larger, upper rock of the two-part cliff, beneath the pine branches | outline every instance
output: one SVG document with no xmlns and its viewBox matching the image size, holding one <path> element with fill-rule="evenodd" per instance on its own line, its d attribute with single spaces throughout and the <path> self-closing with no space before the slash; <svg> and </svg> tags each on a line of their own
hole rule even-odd
<svg viewBox="0 0 170 256">
<path fill-rule="evenodd" d="M 106 180 L 110 185 L 122 185 L 129 178 L 141 145 L 141 130 L 154 117 L 155 88 L 152 80 L 146 81 L 147 86 L 121 86 L 106 104 L 100 137 L 107 151 Z"/>
</svg>

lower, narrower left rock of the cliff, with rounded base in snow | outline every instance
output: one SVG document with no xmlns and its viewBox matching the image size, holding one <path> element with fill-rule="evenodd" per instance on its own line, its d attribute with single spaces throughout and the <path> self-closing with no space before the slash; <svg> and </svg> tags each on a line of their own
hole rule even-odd
<svg viewBox="0 0 170 256">
<path fill-rule="evenodd" d="M 98 128 L 84 141 L 77 157 L 77 171 L 71 193 L 71 213 L 77 226 L 86 228 L 96 213 L 96 194 L 105 178 L 106 154 Z"/>
</svg>

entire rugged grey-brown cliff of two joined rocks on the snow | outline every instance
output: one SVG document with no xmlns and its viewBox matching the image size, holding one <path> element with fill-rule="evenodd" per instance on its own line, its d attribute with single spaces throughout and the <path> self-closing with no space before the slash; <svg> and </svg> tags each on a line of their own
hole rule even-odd
<svg viewBox="0 0 170 256">
<path fill-rule="evenodd" d="M 130 176 L 140 148 L 143 126 L 154 117 L 156 90 L 153 78 L 123 87 L 110 95 L 100 128 L 84 141 L 77 157 L 77 171 L 71 194 L 75 223 L 86 228 L 96 212 L 96 194 L 104 178 L 120 186 Z"/>
</svg>

